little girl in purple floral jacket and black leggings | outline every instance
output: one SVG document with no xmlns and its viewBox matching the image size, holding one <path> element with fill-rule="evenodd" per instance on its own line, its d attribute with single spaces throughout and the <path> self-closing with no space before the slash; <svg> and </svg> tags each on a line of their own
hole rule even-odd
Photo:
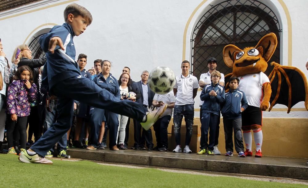
<svg viewBox="0 0 308 188">
<path fill-rule="evenodd" d="M 28 66 L 21 66 L 13 76 L 13 82 L 7 91 L 6 113 L 8 124 L 6 139 L 9 147 L 9 154 L 17 154 L 13 145 L 14 129 L 19 130 L 20 150 L 26 149 L 26 124 L 30 114 L 30 102 L 36 99 L 36 85 L 33 83 L 33 72 Z"/>
</svg>

